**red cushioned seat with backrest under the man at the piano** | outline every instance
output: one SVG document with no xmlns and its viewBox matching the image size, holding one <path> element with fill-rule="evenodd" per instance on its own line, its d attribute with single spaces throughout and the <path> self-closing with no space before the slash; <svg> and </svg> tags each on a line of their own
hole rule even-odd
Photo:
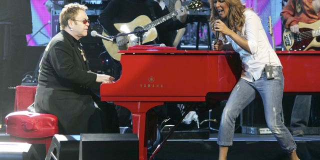
<svg viewBox="0 0 320 160">
<path fill-rule="evenodd" d="M 52 137 L 58 133 L 55 115 L 26 111 L 34 101 L 36 86 L 16 86 L 14 111 L 5 116 L 6 133 L 10 141 L 45 144 L 49 149 Z"/>
</svg>

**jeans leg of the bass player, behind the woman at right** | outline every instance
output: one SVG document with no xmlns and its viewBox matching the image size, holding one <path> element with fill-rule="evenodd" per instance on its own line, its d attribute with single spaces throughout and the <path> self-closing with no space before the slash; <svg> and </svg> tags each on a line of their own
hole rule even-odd
<svg viewBox="0 0 320 160">
<path fill-rule="evenodd" d="M 312 95 L 296 95 L 291 113 L 291 131 L 305 131 L 310 115 Z"/>
</svg>

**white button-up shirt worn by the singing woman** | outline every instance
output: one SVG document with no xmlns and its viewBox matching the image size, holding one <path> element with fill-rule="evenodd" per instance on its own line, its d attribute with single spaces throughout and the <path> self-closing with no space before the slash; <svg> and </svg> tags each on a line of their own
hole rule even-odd
<svg viewBox="0 0 320 160">
<path fill-rule="evenodd" d="M 282 65 L 269 43 L 258 15 L 250 9 L 246 9 L 244 15 L 245 23 L 241 33 L 238 32 L 238 34 L 247 39 L 251 53 L 242 49 L 229 36 L 226 36 L 226 38 L 232 44 L 233 49 L 240 55 L 242 61 L 241 78 L 252 82 L 253 79 L 260 78 L 265 64 Z"/>
</svg>

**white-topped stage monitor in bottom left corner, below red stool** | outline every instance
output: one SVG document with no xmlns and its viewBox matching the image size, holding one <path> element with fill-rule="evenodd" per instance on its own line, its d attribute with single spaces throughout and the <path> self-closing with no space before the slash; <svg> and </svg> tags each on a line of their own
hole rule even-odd
<svg viewBox="0 0 320 160">
<path fill-rule="evenodd" d="M 40 160 L 32 144 L 24 142 L 0 142 L 1 160 Z"/>
</svg>

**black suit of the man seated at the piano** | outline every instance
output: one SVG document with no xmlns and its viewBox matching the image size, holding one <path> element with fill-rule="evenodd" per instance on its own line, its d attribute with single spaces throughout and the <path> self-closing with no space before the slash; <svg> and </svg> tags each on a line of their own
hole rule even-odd
<svg viewBox="0 0 320 160">
<path fill-rule="evenodd" d="M 90 89 L 98 89 L 100 83 L 80 49 L 79 41 L 61 30 L 48 43 L 39 64 L 35 111 L 56 115 L 63 134 L 86 133 L 95 109 Z"/>
</svg>

